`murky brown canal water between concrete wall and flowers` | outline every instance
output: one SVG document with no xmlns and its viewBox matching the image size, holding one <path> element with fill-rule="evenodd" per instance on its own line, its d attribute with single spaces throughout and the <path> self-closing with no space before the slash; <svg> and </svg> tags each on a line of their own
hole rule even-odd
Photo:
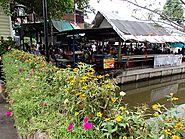
<svg viewBox="0 0 185 139">
<path fill-rule="evenodd" d="M 129 106 L 153 105 L 154 103 L 168 104 L 166 96 L 174 93 L 178 104 L 185 103 L 185 74 L 129 83 L 120 86 L 126 92 L 124 102 Z"/>
</svg>

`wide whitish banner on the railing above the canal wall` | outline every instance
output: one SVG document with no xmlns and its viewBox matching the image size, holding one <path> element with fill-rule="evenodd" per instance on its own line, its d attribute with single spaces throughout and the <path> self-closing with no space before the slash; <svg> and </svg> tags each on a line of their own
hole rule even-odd
<svg viewBox="0 0 185 139">
<path fill-rule="evenodd" d="M 182 55 L 155 55 L 154 68 L 161 66 L 178 66 L 182 64 Z"/>
</svg>

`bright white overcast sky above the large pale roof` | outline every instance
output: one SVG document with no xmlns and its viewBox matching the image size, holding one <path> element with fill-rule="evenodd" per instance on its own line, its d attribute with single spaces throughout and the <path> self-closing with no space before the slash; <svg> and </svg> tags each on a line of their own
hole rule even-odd
<svg viewBox="0 0 185 139">
<path fill-rule="evenodd" d="M 132 0 L 135 1 L 135 0 Z M 162 9 L 163 5 L 165 4 L 166 0 L 136 0 L 139 5 L 147 6 L 150 9 Z M 152 6 L 149 4 L 152 3 Z M 90 5 L 97 11 L 118 11 L 120 17 L 123 17 L 125 20 L 132 20 L 133 15 L 137 18 L 146 18 L 147 11 L 141 10 L 134 14 L 133 9 L 137 8 L 127 2 L 123 2 L 123 0 L 101 0 L 100 3 L 97 3 L 97 0 L 90 0 Z M 86 22 L 91 23 L 95 17 L 95 14 L 91 13 L 88 14 L 89 19 L 85 19 Z"/>
</svg>

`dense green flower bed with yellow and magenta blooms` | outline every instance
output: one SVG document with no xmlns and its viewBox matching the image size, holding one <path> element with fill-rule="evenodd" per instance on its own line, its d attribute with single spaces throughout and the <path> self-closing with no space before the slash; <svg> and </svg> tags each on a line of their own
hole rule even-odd
<svg viewBox="0 0 185 139">
<path fill-rule="evenodd" d="M 125 93 L 116 96 L 118 87 L 108 80 L 109 75 L 96 76 L 94 69 L 83 63 L 74 69 L 58 69 L 42 57 L 14 50 L 3 56 L 3 65 L 8 101 L 22 137 L 184 137 L 183 118 L 162 114 L 165 107 L 156 104 L 154 116 L 159 120 L 147 123 L 145 107 L 128 110 L 123 103 Z"/>
</svg>

